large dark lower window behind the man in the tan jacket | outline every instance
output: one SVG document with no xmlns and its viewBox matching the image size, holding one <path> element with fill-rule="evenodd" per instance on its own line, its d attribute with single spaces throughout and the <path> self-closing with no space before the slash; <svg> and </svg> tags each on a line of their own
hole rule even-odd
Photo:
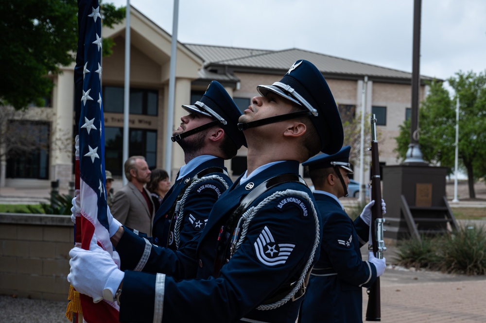
<svg viewBox="0 0 486 323">
<path fill-rule="evenodd" d="M 123 170 L 123 128 L 104 128 L 104 163 L 106 170 L 121 176 Z M 150 169 L 157 165 L 157 132 L 146 129 L 129 129 L 128 156 L 144 156 Z"/>
</svg>

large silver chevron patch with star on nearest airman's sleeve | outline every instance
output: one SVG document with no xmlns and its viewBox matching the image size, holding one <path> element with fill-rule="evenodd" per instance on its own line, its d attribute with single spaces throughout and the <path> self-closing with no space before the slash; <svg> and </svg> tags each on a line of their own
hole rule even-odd
<svg viewBox="0 0 486 323">
<path fill-rule="evenodd" d="M 258 260 L 266 266 L 283 265 L 295 248 L 293 243 L 276 243 L 270 229 L 263 228 L 253 244 Z"/>
</svg>

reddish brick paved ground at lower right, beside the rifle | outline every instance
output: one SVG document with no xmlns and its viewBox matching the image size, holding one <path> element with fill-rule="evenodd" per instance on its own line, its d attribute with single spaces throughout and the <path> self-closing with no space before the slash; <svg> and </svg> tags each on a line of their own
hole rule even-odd
<svg viewBox="0 0 486 323">
<path fill-rule="evenodd" d="M 408 270 L 391 265 L 396 253 L 390 244 L 384 253 L 388 266 L 380 277 L 381 322 L 486 323 L 486 276 Z M 363 321 L 367 303 L 363 289 Z"/>
</svg>

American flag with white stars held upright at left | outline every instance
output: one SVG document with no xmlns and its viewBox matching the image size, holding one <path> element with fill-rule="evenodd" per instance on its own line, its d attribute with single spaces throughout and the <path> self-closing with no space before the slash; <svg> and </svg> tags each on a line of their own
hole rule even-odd
<svg viewBox="0 0 486 323">
<path fill-rule="evenodd" d="M 76 217 L 76 242 L 81 242 L 83 249 L 93 250 L 101 246 L 113 256 L 106 215 L 102 39 L 98 0 L 78 0 L 78 27 L 74 85 L 79 157 L 76 157 L 75 168 L 81 216 Z M 119 307 L 116 303 L 103 301 L 95 304 L 86 295 L 80 295 L 80 298 L 84 321 L 118 322 Z"/>
</svg>

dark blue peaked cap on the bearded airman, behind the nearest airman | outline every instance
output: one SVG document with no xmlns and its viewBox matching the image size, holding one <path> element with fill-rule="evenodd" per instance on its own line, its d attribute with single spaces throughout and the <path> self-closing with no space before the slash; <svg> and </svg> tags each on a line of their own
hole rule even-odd
<svg viewBox="0 0 486 323">
<path fill-rule="evenodd" d="M 238 149 L 246 147 L 243 132 L 238 130 L 238 119 L 243 114 L 218 81 L 211 81 L 200 101 L 194 105 L 182 105 L 189 113 L 199 113 L 221 122 L 220 126 L 233 140 Z"/>
</svg>

